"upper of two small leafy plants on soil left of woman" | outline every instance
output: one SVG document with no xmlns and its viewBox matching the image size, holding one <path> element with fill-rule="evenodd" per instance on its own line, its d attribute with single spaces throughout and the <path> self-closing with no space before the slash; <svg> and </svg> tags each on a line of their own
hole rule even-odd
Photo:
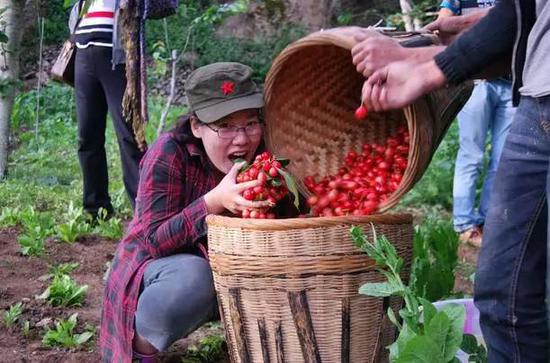
<svg viewBox="0 0 550 363">
<path fill-rule="evenodd" d="M 69 275 L 55 275 L 38 299 L 46 300 L 52 306 L 81 306 L 87 291 L 88 285 L 78 285 Z"/>
</svg>

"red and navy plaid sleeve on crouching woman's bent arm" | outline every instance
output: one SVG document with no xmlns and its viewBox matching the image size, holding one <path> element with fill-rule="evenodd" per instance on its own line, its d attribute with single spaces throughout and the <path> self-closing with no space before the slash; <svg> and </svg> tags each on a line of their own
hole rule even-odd
<svg viewBox="0 0 550 363">
<path fill-rule="evenodd" d="M 185 205 L 185 157 L 174 142 L 161 141 L 146 155 L 140 173 L 136 213 L 153 258 L 194 244 L 206 235 L 204 198 Z M 194 181 L 200 183 L 201 181 Z"/>
</svg>

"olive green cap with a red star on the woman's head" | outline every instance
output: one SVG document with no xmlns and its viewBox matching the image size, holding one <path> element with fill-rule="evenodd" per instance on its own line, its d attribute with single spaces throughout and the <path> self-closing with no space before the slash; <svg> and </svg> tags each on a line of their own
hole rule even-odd
<svg viewBox="0 0 550 363">
<path fill-rule="evenodd" d="M 212 63 L 194 70 L 185 82 L 191 111 L 204 123 L 233 112 L 262 108 L 263 95 L 251 78 L 252 68 L 241 63 Z"/>
</svg>

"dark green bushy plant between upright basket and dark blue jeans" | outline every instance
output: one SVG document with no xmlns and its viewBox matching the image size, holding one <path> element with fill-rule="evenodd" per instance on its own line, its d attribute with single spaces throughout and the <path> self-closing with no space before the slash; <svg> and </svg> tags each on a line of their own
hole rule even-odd
<svg viewBox="0 0 550 363">
<path fill-rule="evenodd" d="M 451 295 L 458 264 L 458 235 L 450 221 L 428 217 L 415 227 L 411 288 L 428 301 Z"/>
</svg>

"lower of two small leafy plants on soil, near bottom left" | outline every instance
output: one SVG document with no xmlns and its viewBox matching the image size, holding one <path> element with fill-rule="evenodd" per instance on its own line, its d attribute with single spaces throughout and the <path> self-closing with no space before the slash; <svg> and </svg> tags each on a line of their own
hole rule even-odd
<svg viewBox="0 0 550 363">
<path fill-rule="evenodd" d="M 80 334 L 75 333 L 77 317 L 78 314 L 75 313 L 67 320 L 57 321 L 55 329 L 46 329 L 42 344 L 46 347 L 74 348 L 87 343 L 95 335 L 95 329 Z"/>
</svg>

